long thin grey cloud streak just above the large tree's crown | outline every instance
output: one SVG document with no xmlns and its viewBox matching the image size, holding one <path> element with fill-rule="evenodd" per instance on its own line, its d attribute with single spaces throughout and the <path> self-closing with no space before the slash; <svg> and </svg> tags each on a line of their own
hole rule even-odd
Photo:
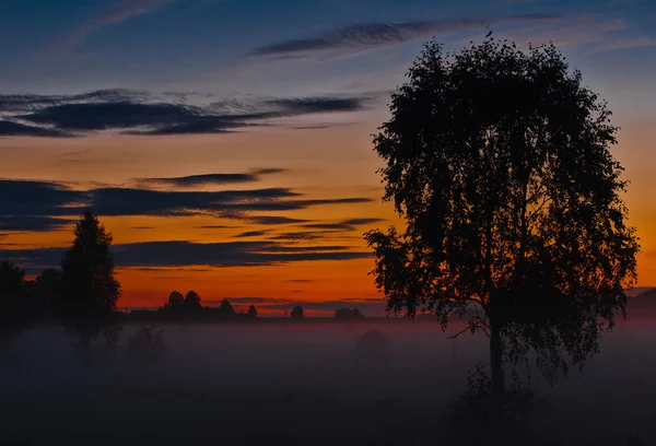
<svg viewBox="0 0 656 446">
<path fill-rule="evenodd" d="M 560 19 L 552 14 L 514 14 L 459 17 L 424 22 L 370 22 L 341 26 L 315 37 L 283 40 L 256 48 L 253 56 L 286 56 L 331 49 L 358 50 L 399 45 L 436 33 L 481 27 L 497 22 L 542 22 Z"/>
</svg>

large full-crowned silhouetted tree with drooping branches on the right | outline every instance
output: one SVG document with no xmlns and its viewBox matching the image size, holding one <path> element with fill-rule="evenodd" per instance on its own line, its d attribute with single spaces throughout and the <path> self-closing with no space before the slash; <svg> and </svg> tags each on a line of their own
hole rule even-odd
<svg viewBox="0 0 656 446">
<path fill-rule="evenodd" d="M 522 51 L 490 35 L 455 55 L 426 44 L 374 137 L 386 201 L 406 227 L 371 231 L 388 312 L 473 306 L 490 338 L 492 392 L 504 363 L 553 379 L 583 366 L 636 279 L 626 181 L 606 103 L 553 45 Z"/>
</svg>

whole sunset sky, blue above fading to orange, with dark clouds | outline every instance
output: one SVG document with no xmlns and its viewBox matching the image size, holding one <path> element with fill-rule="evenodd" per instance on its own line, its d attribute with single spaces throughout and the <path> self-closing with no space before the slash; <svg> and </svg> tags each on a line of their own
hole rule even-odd
<svg viewBox="0 0 656 446">
<path fill-rule="evenodd" d="M 57 266 L 92 206 L 119 306 L 173 290 L 282 313 L 382 307 L 362 234 L 398 223 L 372 133 L 435 37 L 552 40 L 621 127 L 614 156 L 656 285 L 651 1 L 4 0 L 0 256 Z"/>
</svg>

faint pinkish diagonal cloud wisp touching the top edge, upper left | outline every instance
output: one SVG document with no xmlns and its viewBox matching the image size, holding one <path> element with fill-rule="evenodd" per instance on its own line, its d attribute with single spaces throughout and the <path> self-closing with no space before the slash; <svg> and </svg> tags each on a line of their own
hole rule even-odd
<svg viewBox="0 0 656 446">
<path fill-rule="evenodd" d="M 70 33 L 57 38 L 51 48 L 73 46 L 84 40 L 86 36 L 105 26 L 121 23 L 130 17 L 164 8 L 176 0 L 122 0 L 114 2 L 110 8 L 82 22 Z"/>
</svg>

